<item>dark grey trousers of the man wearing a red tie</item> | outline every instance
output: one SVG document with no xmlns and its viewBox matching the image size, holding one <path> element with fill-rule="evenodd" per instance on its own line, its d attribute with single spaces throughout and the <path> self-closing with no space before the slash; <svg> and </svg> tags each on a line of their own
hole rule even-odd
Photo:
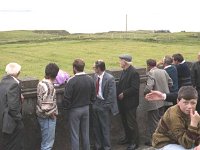
<svg viewBox="0 0 200 150">
<path fill-rule="evenodd" d="M 95 150 L 111 150 L 110 112 L 102 106 L 93 106 Z"/>
</svg>

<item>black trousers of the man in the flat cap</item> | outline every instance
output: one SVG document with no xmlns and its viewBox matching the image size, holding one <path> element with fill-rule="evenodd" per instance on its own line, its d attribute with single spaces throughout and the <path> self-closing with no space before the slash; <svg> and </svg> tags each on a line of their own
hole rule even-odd
<svg viewBox="0 0 200 150">
<path fill-rule="evenodd" d="M 130 144 L 139 145 L 139 132 L 138 124 L 136 120 L 137 108 L 131 108 L 129 110 L 121 110 L 121 119 L 125 131 L 125 136 Z"/>
</svg>

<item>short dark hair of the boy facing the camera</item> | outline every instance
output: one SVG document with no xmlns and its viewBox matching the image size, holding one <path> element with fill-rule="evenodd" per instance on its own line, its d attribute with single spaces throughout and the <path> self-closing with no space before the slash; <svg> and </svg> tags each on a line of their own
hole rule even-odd
<svg viewBox="0 0 200 150">
<path fill-rule="evenodd" d="M 178 91 L 178 100 L 198 99 L 197 90 L 192 86 L 182 86 Z"/>
</svg>

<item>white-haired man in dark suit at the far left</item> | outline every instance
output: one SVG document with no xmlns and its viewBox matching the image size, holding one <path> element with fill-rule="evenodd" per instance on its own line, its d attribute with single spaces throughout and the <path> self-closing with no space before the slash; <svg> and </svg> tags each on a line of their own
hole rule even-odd
<svg viewBox="0 0 200 150">
<path fill-rule="evenodd" d="M 23 128 L 21 114 L 21 87 L 17 77 L 21 66 L 9 63 L 7 75 L 0 82 L 0 129 L 3 136 L 3 150 L 23 150 Z"/>
</svg>

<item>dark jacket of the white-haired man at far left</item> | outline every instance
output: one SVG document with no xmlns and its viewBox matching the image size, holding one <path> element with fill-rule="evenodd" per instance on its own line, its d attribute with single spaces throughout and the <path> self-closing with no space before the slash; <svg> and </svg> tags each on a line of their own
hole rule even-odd
<svg viewBox="0 0 200 150">
<path fill-rule="evenodd" d="M 0 82 L 0 129 L 12 133 L 21 120 L 21 88 L 13 77 L 7 75 Z"/>
</svg>

